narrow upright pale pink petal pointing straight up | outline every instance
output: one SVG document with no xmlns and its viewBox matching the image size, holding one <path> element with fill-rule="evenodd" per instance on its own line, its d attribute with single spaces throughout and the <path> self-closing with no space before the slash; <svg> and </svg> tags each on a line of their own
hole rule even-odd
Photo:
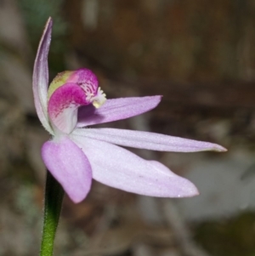
<svg viewBox="0 0 255 256">
<path fill-rule="evenodd" d="M 51 40 L 52 20 L 48 19 L 42 38 L 37 50 L 33 72 L 33 94 L 37 115 L 42 122 L 42 126 L 50 133 L 54 134 L 48 122 L 47 94 L 48 94 L 48 49 Z"/>
</svg>

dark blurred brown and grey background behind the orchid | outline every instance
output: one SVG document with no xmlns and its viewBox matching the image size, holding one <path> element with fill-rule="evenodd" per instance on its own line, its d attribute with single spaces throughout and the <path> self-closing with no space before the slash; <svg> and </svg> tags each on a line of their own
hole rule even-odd
<svg viewBox="0 0 255 256">
<path fill-rule="evenodd" d="M 227 153 L 134 151 L 192 180 L 189 199 L 94 182 L 65 198 L 55 255 L 255 255 L 255 1 L 0 0 L 0 256 L 37 255 L 48 139 L 31 74 L 52 16 L 52 79 L 87 67 L 107 97 L 162 94 L 155 110 L 105 124 L 207 140 Z"/>
</svg>

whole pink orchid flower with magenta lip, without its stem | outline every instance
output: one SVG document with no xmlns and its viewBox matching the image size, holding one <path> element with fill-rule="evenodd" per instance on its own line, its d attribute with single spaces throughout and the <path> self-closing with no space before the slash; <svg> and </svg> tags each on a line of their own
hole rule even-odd
<svg viewBox="0 0 255 256">
<path fill-rule="evenodd" d="M 92 179 L 146 196 L 198 194 L 189 180 L 156 161 L 118 145 L 153 151 L 225 151 L 220 145 L 163 134 L 88 126 L 134 117 L 155 108 L 161 96 L 106 100 L 92 71 L 60 73 L 48 87 L 52 20 L 43 31 L 33 73 L 33 94 L 42 126 L 53 137 L 42 145 L 42 160 L 73 202 L 81 202 Z"/>
</svg>

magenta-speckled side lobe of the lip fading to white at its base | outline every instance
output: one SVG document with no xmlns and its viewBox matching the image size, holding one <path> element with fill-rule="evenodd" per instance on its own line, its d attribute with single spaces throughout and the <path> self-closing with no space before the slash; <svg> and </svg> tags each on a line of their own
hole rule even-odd
<svg viewBox="0 0 255 256">
<path fill-rule="evenodd" d="M 88 104 L 86 95 L 76 83 L 65 83 L 57 88 L 48 101 L 48 114 L 54 126 L 70 134 L 77 125 L 77 109 Z"/>
</svg>

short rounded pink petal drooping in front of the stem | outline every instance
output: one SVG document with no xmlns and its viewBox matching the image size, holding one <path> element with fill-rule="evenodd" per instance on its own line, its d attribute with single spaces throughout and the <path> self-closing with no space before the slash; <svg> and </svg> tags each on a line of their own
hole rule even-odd
<svg viewBox="0 0 255 256">
<path fill-rule="evenodd" d="M 42 160 L 73 202 L 81 202 L 90 190 L 92 173 L 88 158 L 67 137 L 42 145 Z"/>
</svg>

